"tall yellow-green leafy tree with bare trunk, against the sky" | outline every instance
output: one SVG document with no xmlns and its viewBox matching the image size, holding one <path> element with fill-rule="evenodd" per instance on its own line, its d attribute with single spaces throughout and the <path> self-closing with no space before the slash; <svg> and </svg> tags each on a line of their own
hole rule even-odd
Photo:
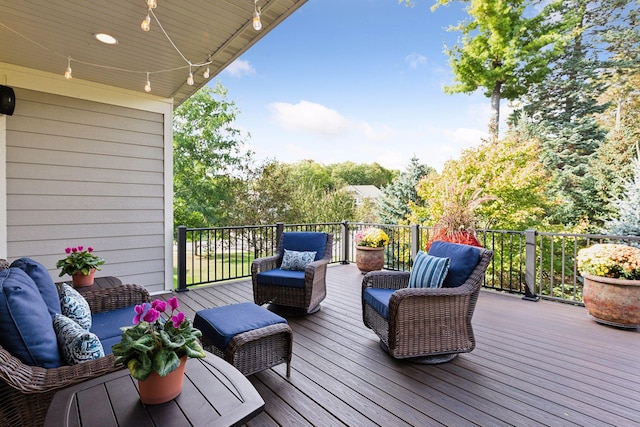
<svg viewBox="0 0 640 427">
<path fill-rule="evenodd" d="M 435 9 L 453 0 L 437 0 Z M 471 19 L 451 26 L 462 39 L 449 56 L 455 84 L 445 87 L 447 93 L 473 93 L 479 88 L 491 98 L 489 133 L 498 138 L 500 100 L 515 100 L 530 86 L 544 79 L 548 64 L 562 49 L 559 27 L 552 19 L 556 2 L 547 5 L 531 18 L 533 3 L 529 0 L 469 0 Z"/>
</svg>

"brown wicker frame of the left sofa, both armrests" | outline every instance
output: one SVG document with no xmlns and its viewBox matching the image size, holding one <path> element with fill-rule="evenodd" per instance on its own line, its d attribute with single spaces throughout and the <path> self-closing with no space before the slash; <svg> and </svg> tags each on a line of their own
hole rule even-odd
<svg viewBox="0 0 640 427">
<path fill-rule="evenodd" d="M 83 294 L 92 313 L 100 313 L 149 301 L 149 293 L 138 285 L 120 285 Z M 107 374 L 115 366 L 112 354 L 73 366 L 45 369 L 28 366 L 0 347 L 0 425 L 41 426 L 60 389 Z"/>
</svg>

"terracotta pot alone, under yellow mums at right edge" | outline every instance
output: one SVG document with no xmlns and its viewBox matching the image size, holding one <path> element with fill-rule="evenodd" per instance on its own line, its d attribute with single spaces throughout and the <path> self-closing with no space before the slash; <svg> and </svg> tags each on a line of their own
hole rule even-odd
<svg viewBox="0 0 640 427">
<path fill-rule="evenodd" d="M 582 274 L 582 301 L 596 322 L 621 328 L 640 327 L 640 280 Z"/>
</svg>

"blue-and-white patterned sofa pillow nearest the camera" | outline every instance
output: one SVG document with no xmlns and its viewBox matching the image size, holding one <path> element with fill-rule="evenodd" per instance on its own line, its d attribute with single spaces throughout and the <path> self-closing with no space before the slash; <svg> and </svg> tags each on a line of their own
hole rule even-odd
<svg viewBox="0 0 640 427">
<path fill-rule="evenodd" d="M 104 357 L 102 343 L 96 334 L 82 329 L 75 321 L 62 314 L 53 318 L 58 346 L 67 365 L 77 365 L 88 360 Z"/>
</svg>

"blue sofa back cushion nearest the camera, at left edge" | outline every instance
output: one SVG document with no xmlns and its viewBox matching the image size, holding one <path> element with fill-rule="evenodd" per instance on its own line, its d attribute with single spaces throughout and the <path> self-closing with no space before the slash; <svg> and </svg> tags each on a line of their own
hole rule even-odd
<svg viewBox="0 0 640 427">
<path fill-rule="evenodd" d="M 0 345 L 26 365 L 62 366 L 49 308 L 31 277 L 8 268 L 0 286 Z"/>
</svg>

